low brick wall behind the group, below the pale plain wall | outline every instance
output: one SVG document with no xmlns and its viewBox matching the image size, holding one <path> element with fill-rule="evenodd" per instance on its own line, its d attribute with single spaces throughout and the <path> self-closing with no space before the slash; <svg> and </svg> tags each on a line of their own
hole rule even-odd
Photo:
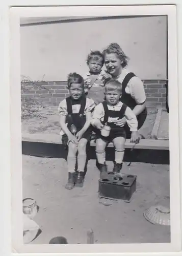
<svg viewBox="0 0 182 256">
<path fill-rule="evenodd" d="M 143 80 L 147 96 L 147 106 L 166 106 L 166 80 Z M 58 106 L 67 97 L 66 81 L 60 82 L 23 82 L 27 89 L 21 97 L 38 98 L 44 105 Z"/>
</svg>

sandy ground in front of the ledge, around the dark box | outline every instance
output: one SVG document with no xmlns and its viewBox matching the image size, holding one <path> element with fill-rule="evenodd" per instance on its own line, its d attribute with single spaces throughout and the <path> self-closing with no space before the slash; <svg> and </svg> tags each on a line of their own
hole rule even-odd
<svg viewBox="0 0 182 256">
<path fill-rule="evenodd" d="M 65 189 L 67 164 L 64 159 L 22 156 L 23 198 L 37 200 L 35 221 L 42 229 L 32 242 L 47 244 L 55 236 L 68 243 L 86 243 L 86 232 L 94 231 L 94 243 L 170 242 L 170 227 L 153 225 L 143 211 L 156 204 L 169 207 L 169 165 L 132 163 L 123 173 L 137 175 L 137 191 L 130 203 L 99 203 L 99 172 L 95 160 L 88 162 L 83 188 Z M 108 162 L 109 169 L 112 162 Z"/>
</svg>

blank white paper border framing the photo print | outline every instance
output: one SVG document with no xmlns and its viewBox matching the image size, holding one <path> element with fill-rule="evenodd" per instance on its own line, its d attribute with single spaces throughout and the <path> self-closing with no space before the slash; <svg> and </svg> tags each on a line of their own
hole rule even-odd
<svg viewBox="0 0 182 256">
<path fill-rule="evenodd" d="M 66 15 L 67 11 L 67 15 Z M 169 67 L 169 134 L 170 134 L 170 244 L 93 244 L 93 245 L 23 245 L 22 243 L 22 176 L 21 176 L 21 104 L 20 104 L 20 17 L 100 15 L 168 15 L 168 67 Z M 101 14 L 102 13 L 102 14 Z M 11 194 L 12 241 L 16 252 L 21 253 L 90 253 L 90 252 L 178 252 L 180 239 L 180 187 L 179 187 L 179 136 L 177 87 L 177 34 L 176 7 L 170 6 L 101 6 L 101 7 L 14 7 L 10 10 L 10 90 L 11 90 Z M 170 87 L 172 84 L 172 87 Z M 16 117 L 16 118 L 15 118 Z M 175 123 L 175 125 L 174 125 Z M 177 182 L 176 182 L 177 181 Z M 178 183 L 178 184 L 177 184 Z M 64 254 L 61 254 L 64 255 Z"/>
</svg>

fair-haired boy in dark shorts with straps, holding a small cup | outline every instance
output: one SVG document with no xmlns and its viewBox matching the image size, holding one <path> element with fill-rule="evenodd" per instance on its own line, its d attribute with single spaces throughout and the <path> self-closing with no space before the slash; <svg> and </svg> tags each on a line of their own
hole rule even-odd
<svg viewBox="0 0 182 256">
<path fill-rule="evenodd" d="M 110 80 L 105 85 L 106 100 L 95 106 L 91 124 L 96 128 L 96 166 L 100 170 L 100 176 L 107 174 L 106 166 L 106 146 L 113 142 L 115 147 L 115 162 L 113 173 L 119 173 L 122 168 L 124 157 L 124 144 L 126 132 L 124 127 L 115 124 L 115 121 L 126 117 L 127 124 L 132 132 L 131 142 L 139 140 L 138 121 L 133 111 L 123 104 L 119 99 L 121 97 L 122 86 L 117 80 Z M 107 124 L 111 127 L 108 137 L 101 135 L 103 126 Z"/>
</svg>

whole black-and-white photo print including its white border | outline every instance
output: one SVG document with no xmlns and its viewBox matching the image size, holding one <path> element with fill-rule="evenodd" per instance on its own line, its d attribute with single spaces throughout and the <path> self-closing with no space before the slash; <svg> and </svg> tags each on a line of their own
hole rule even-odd
<svg viewBox="0 0 182 256">
<path fill-rule="evenodd" d="M 13 241 L 22 252 L 149 252 L 180 241 L 175 15 L 130 8 L 16 15 Z"/>
</svg>

